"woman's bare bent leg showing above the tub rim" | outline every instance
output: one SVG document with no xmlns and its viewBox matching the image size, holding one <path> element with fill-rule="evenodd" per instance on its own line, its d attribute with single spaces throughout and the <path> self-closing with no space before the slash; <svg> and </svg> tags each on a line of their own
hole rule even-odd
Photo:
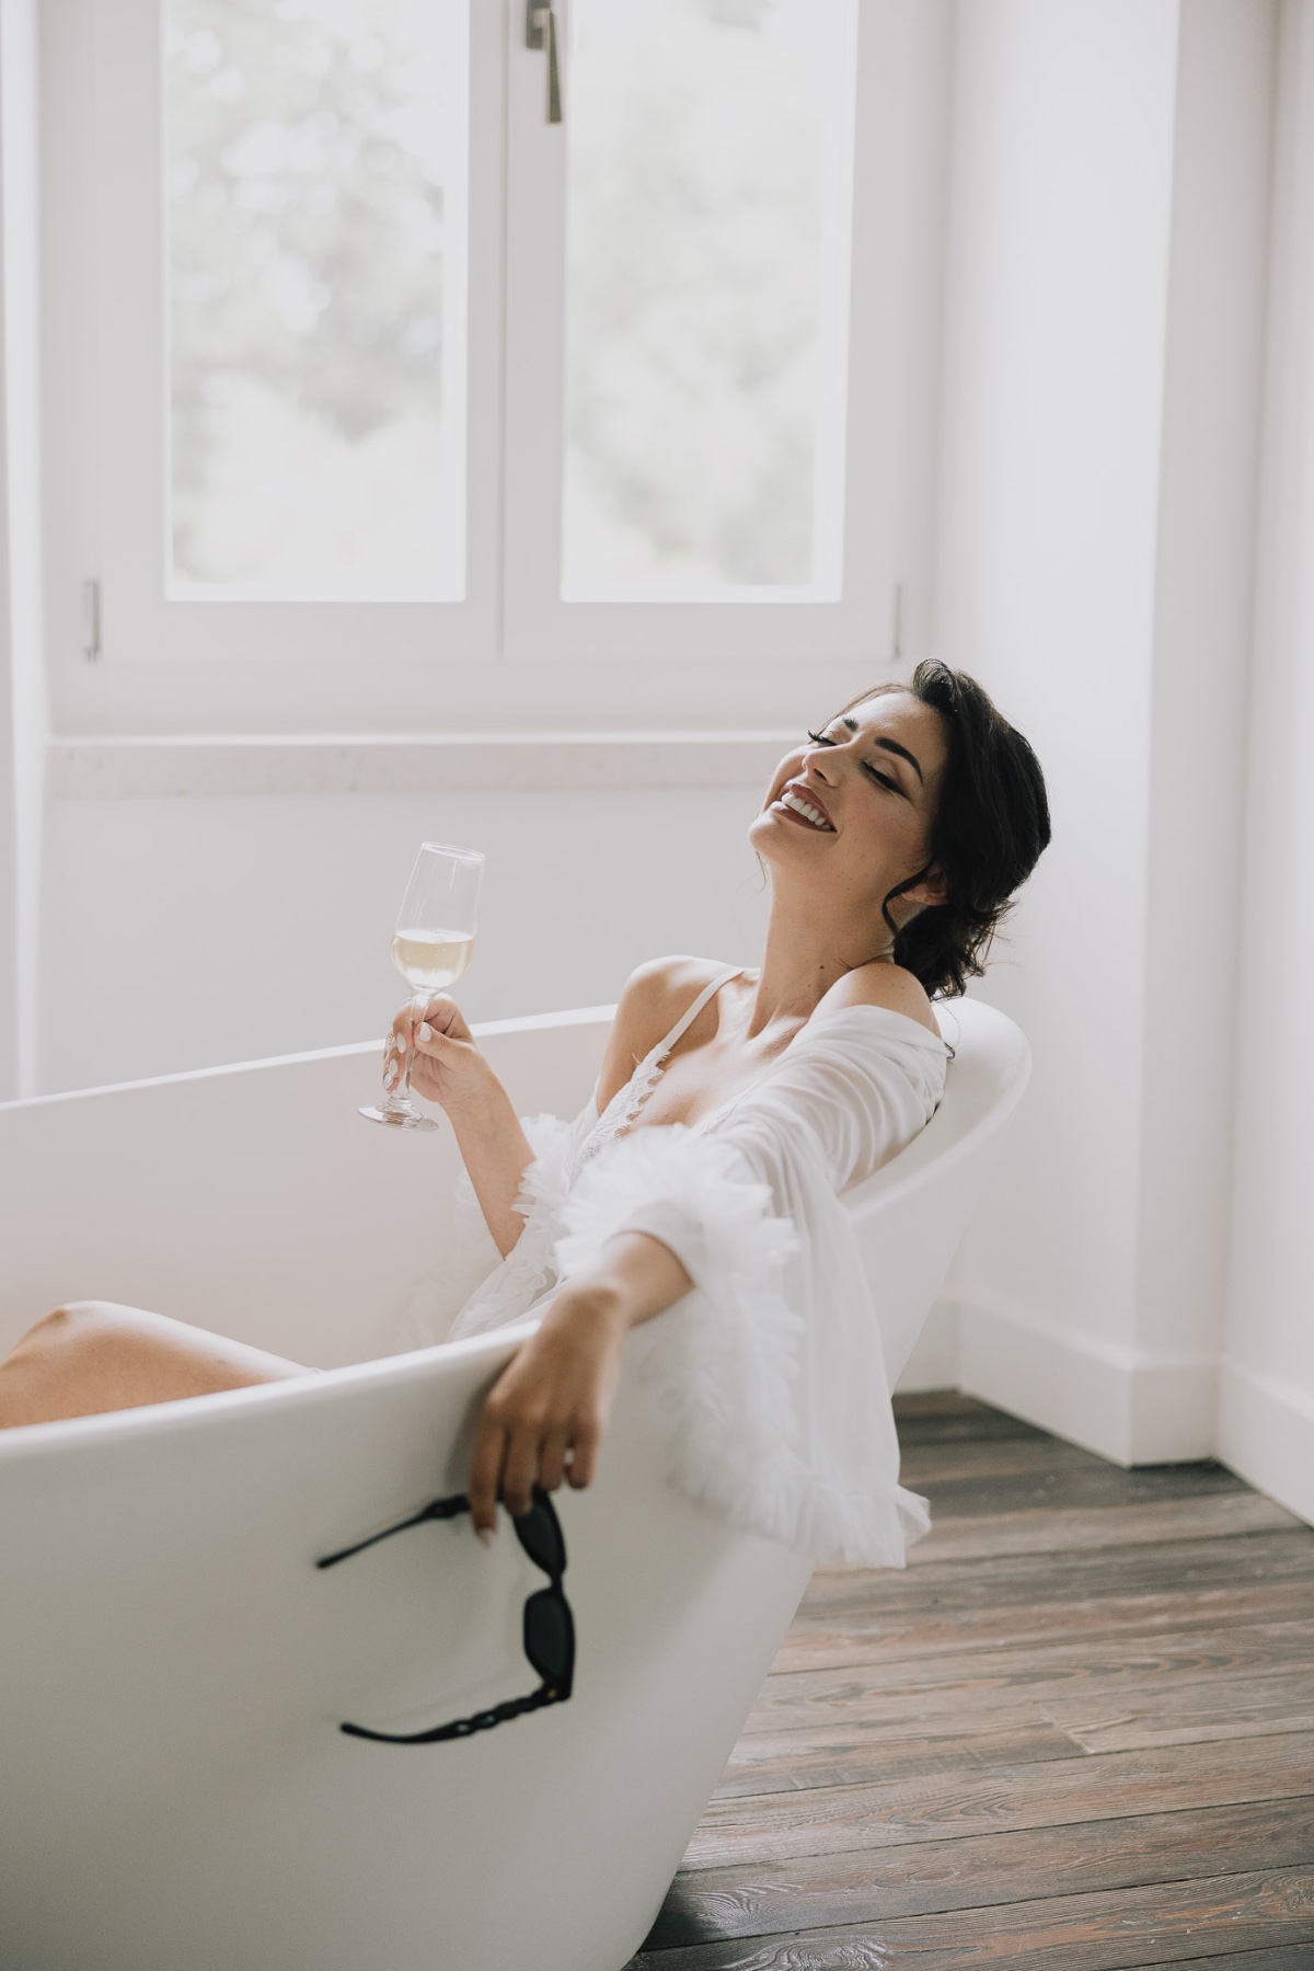
<svg viewBox="0 0 1314 1971">
<path fill-rule="evenodd" d="M 0 1362 L 0 1429 L 305 1376 L 284 1356 L 114 1301 L 71 1301 Z"/>
</svg>

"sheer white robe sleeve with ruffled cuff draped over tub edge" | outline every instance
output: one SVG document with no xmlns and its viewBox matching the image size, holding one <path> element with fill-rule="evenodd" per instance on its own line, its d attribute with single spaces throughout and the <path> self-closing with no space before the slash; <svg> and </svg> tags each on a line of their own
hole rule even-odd
<svg viewBox="0 0 1314 1971">
<path fill-rule="evenodd" d="M 613 1143 L 561 1208 L 561 1275 L 648 1232 L 693 1281 L 632 1344 L 672 1482 L 818 1561 L 898 1567 L 930 1524 L 898 1486 L 879 1289 L 839 1192 L 924 1127 L 946 1053 L 879 1007 L 814 1015 L 749 1094 Z"/>
</svg>

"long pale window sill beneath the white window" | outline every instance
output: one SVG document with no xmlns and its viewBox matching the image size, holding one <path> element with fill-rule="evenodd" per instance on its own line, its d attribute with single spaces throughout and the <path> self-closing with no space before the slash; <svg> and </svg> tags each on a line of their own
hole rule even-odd
<svg viewBox="0 0 1314 1971">
<path fill-rule="evenodd" d="M 394 733 L 53 739 L 53 798 L 613 794 L 764 786 L 786 731 Z"/>
</svg>

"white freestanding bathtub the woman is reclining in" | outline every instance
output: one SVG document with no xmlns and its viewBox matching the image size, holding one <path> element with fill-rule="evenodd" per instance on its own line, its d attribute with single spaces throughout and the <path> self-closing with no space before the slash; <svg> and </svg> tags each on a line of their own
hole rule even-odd
<svg viewBox="0 0 1314 1971">
<path fill-rule="evenodd" d="M 524 1112 L 573 1114 L 609 1009 L 481 1031 Z M 851 1192 L 890 1380 L 1026 1080 L 979 1003 L 930 1127 Z M 544 1587 L 465 1482 L 512 1336 L 386 1356 L 443 1246 L 451 1137 L 370 1129 L 378 1047 L 0 1108 L 0 1348 L 110 1299 L 325 1366 L 0 1433 L 0 1961 L 14 1971 L 619 1971 L 640 1945 L 808 1563 L 662 1476 L 623 1384 L 597 1484 L 558 1494 L 569 1703 L 392 1746 L 538 1683 Z M 384 1356 L 382 1360 L 378 1360 Z"/>
</svg>

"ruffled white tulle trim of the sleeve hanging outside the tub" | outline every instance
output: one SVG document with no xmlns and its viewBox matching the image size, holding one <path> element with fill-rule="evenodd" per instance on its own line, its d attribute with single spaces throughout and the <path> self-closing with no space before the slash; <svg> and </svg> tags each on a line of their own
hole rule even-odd
<svg viewBox="0 0 1314 1971">
<path fill-rule="evenodd" d="M 680 1127 L 621 1137 L 579 1175 L 561 1224 L 561 1277 L 619 1232 L 648 1232 L 695 1283 L 634 1336 L 668 1423 L 676 1490 L 814 1561 L 902 1567 L 904 1547 L 930 1528 L 926 1502 L 892 1480 L 843 1490 L 806 1457 L 806 1330 L 784 1285 L 798 1242 L 739 1153 Z"/>
</svg>

